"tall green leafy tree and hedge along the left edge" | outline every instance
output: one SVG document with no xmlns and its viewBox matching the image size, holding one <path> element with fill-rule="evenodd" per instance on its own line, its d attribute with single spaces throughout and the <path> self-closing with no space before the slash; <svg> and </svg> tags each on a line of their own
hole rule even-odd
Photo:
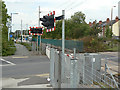
<svg viewBox="0 0 120 90">
<path fill-rule="evenodd" d="M 2 16 L 2 55 L 11 55 L 15 52 L 15 48 L 10 48 L 10 46 L 14 45 L 13 41 L 9 41 L 8 42 L 8 27 L 6 26 L 7 24 L 7 19 L 10 19 L 10 16 L 7 14 L 7 8 L 6 5 L 4 3 L 4 1 L 1 1 L 0 4 L 2 10 L 2 14 L 0 14 Z"/>
</svg>

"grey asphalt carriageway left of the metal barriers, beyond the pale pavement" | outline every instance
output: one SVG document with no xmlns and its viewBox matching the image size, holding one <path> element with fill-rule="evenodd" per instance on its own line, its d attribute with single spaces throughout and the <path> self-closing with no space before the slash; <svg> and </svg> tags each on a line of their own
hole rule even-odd
<svg viewBox="0 0 120 90">
<path fill-rule="evenodd" d="M 20 77 L 49 73 L 49 60 L 46 56 L 5 58 L 5 60 L 15 65 L 3 66 L 3 77 Z"/>
</svg>

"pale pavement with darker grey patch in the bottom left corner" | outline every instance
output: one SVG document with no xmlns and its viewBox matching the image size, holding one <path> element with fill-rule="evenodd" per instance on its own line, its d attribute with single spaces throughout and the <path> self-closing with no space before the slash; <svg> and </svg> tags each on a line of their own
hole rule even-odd
<svg viewBox="0 0 120 90">
<path fill-rule="evenodd" d="M 2 78 L 2 88 L 52 88 L 47 77 L 34 76 L 31 78 Z"/>
</svg>

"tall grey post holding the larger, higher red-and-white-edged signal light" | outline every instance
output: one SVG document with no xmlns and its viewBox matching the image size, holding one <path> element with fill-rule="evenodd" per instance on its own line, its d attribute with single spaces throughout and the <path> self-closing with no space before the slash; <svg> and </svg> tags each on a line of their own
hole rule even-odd
<svg viewBox="0 0 120 90">
<path fill-rule="evenodd" d="M 65 48 L 65 10 L 62 10 L 62 15 L 55 17 L 55 11 L 53 13 L 43 16 L 43 18 L 40 18 L 40 21 L 42 21 L 42 25 L 46 27 L 46 32 L 55 31 L 55 21 L 62 19 L 62 76 L 64 77 L 64 48 Z M 61 67 L 58 67 L 59 71 L 61 71 Z M 61 79 L 61 75 L 59 76 Z M 63 79 L 63 78 L 62 78 Z M 61 80 L 58 80 L 59 88 L 61 88 Z"/>
</svg>

